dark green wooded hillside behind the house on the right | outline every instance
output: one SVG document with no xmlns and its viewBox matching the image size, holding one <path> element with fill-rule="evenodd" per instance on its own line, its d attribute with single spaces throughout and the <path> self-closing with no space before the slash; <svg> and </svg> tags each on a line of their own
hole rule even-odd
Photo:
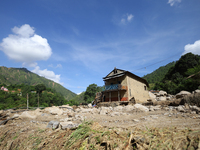
<svg viewBox="0 0 200 150">
<path fill-rule="evenodd" d="M 176 94 L 182 90 L 192 92 L 200 86 L 200 56 L 187 53 L 176 63 L 172 62 L 160 67 L 144 76 L 144 79 L 154 84 L 150 89 L 164 90 L 170 94 Z"/>
</svg>

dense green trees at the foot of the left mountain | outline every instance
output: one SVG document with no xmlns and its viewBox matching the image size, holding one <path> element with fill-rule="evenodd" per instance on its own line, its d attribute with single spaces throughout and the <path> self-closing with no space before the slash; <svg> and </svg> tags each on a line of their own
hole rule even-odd
<svg viewBox="0 0 200 150">
<path fill-rule="evenodd" d="M 0 84 L 0 87 L 6 87 Z M 29 99 L 29 107 L 39 106 L 48 107 L 52 105 L 63 105 L 67 103 L 67 100 L 54 89 L 46 88 L 45 85 L 39 84 L 36 86 L 29 85 L 10 85 L 6 87 L 9 91 L 0 90 L 0 109 L 9 109 L 16 107 L 27 106 L 27 94 Z M 36 93 L 39 94 L 37 94 Z"/>
</svg>

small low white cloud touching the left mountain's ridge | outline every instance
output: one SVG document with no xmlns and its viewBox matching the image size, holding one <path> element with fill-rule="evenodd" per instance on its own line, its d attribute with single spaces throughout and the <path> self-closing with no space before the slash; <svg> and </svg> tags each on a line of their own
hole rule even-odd
<svg viewBox="0 0 200 150">
<path fill-rule="evenodd" d="M 35 69 L 32 70 L 32 72 L 40 76 L 43 76 L 47 79 L 53 80 L 54 82 L 57 82 L 59 84 L 63 84 L 63 83 L 60 83 L 60 75 L 56 75 L 53 71 L 49 71 L 47 69 L 40 70 L 40 67 L 36 66 Z"/>
</svg>

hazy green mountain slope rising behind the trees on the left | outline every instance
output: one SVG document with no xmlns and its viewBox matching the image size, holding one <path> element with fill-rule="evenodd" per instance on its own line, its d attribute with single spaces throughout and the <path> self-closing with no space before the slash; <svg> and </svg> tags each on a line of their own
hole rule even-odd
<svg viewBox="0 0 200 150">
<path fill-rule="evenodd" d="M 75 93 L 64 88 L 62 85 L 41 77 L 26 68 L 7 68 L 0 67 L 0 84 L 14 85 L 14 84 L 25 84 L 25 85 L 37 85 L 44 84 L 47 88 L 55 89 L 58 93 L 61 93 L 67 100 L 72 99 L 76 96 Z"/>
</svg>

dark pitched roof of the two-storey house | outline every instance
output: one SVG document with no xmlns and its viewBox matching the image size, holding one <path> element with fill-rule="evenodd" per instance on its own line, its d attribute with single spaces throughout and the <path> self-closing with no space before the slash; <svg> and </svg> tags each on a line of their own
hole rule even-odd
<svg viewBox="0 0 200 150">
<path fill-rule="evenodd" d="M 132 76 L 134 78 L 137 78 L 141 82 L 145 83 L 147 85 L 147 87 L 149 87 L 149 84 L 145 79 L 143 79 L 143 78 L 141 78 L 141 77 L 139 77 L 139 76 L 137 76 L 137 75 L 135 75 L 135 74 L 133 74 L 129 71 L 117 69 L 117 68 L 114 68 L 114 70 L 112 70 L 106 77 L 104 77 L 103 80 L 106 81 L 106 80 L 109 80 L 109 79 L 112 79 L 112 78 L 118 78 L 118 77 L 121 77 L 121 76 L 124 76 L 124 75 L 129 75 L 129 76 Z"/>
</svg>

